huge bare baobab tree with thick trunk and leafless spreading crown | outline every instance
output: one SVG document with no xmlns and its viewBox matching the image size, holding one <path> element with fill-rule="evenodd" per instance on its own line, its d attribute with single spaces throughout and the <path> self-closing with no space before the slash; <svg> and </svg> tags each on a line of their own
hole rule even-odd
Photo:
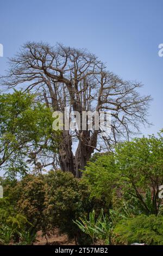
<svg viewBox="0 0 163 256">
<path fill-rule="evenodd" d="M 21 84 L 25 90 L 39 93 L 53 111 L 110 111 L 111 133 L 99 131 L 62 131 L 59 147 L 60 168 L 80 177 L 80 170 L 95 151 L 110 149 L 139 131 L 147 123 L 150 96 L 141 97 L 137 88 L 141 83 L 123 81 L 106 70 L 105 65 L 85 50 L 57 44 L 28 42 L 15 58 L 10 59 L 8 74 L 1 84 L 13 88 Z M 73 153 L 72 144 L 78 142 Z"/>
</svg>

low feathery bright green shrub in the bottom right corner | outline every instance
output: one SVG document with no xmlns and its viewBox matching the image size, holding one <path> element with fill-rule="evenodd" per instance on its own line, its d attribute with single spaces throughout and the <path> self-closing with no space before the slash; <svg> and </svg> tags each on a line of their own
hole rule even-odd
<svg viewBox="0 0 163 256">
<path fill-rule="evenodd" d="M 114 228 L 113 242 L 116 245 L 134 242 L 163 245 L 163 216 L 140 215 L 120 221 Z"/>
</svg>

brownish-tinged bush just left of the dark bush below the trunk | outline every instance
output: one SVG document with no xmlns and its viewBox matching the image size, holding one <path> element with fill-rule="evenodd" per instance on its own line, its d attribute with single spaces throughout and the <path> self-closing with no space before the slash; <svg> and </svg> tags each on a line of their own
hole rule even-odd
<svg viewBox="0 0 163 256">
<path fill-rule="evenodd" d="M 12 198 L 17 197 L 15 208 L 26 216 L 34 230 L 41 229 L 44 223 L 45 193 L 45 182 L 41 175 L 27 175 L 12 189 Z"/>
</svg>

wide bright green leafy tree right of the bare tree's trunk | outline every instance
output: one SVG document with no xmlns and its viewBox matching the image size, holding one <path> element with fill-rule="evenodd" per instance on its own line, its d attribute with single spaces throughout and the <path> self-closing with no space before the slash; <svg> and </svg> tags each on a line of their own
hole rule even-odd
<svg viewBox="0 0 163 256">
<path fill-rule="evenodd" d="M 162 202 L 159 186 L 163 182 L 161 134 L 120 143 L 114 153 L 96 155 L 87 164 L 82 179 L 90 196 L 103 198 L 109 207 L 122 210 L 126 204 L 133 215 L 157 215 Z"/>
</svg>

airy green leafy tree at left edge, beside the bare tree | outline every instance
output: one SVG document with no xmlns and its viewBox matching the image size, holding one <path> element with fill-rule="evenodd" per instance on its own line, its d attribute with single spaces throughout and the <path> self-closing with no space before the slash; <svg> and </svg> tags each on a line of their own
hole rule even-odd
<svg viewBox="0 0 163 256">
<path fill-rule="evenodd" d="M 30 166 L 38 172 L 54 164 L 58 139 L 52 112 L 35 98 L 16 90 L 0 95 L 0 167 L 12 178 L 27 174 Z"/>
</svg>

